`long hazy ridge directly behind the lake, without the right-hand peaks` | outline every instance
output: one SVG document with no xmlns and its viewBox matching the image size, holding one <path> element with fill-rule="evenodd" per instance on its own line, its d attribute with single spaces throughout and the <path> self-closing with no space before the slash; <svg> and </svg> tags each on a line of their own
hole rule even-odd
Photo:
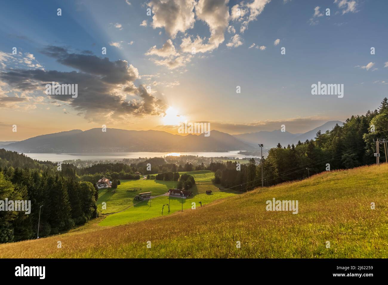
<svg viewBox="0 0 388 285">
<path fill-rule="evenodd" d="M 101 128 L 72 130 L 36 136 L 3 145 L 7 150 L 24 153 L 81 152 L 185 152 L 250 150 L 250 145 L 232 135 L 211 131 L 210 136 L 173 135 L 165 131 L 130 131 Z"/>
</svg>

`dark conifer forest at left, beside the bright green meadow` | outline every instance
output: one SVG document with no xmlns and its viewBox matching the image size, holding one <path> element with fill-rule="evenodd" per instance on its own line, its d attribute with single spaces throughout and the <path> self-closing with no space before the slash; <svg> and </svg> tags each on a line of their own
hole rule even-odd
<svg viewBox="0 0 388 285">
<path fill-rule="evenodd" d="M 30 214 L 0 211 L 0 242 L 35 238 L 39 212 L 41 237 L 83 225 L 97 216 L 97 198 L 98 191 L 90 182 L 40 169 L 0 167 L 0 200 L 31 201 Z"/>
</svg>

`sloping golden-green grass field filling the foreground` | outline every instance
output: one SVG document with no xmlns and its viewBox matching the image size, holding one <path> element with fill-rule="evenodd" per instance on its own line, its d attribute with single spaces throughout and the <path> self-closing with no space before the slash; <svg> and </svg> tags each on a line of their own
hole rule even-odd
<svg viewBox="0 0 388 285">
<path fill-rule="evenodd" d="M 2 244 L 0 257 L 388 257 L 387 173 L 386 164 L 324 172 L 196 210 Z M 299 213 L 266 211 L 272 198 L 298 200 Z"/>
</svg>

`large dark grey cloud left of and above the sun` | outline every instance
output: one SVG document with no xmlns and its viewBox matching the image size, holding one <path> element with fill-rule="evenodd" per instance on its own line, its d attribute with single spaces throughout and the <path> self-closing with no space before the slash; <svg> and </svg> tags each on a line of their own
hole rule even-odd
<svg viewBox="0 0 388 285">
<path fill-rule="evenodd" d="M 125 60 L 110 61 L 95 55 L 69 53 L 63 47 L 49 46 L 42 52 L 57 62 L 78 71 L 44 71 L 40 69 L 13 69 L 0 73 L 0 80 L 19 91 L 45 92 L 46 84 L 77 84 L 78 97 L 71 95 L 48 95 L 50 98 L 68 102 L 74 110 L 90 121 L 119 120 L 128 116 L 159 115 L 165 104 L 145 86 L 135 86 L 138 71 Z M 126 95 L 140 99 L 126 100 Z M 7 97 L 9 98 L 9 97 Z"/>
</svg>

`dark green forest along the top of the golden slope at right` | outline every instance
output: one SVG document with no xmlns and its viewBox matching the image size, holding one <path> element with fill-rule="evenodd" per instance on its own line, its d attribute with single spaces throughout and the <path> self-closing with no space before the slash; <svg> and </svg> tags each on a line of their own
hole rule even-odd
<svg viewBox="0 0 388 285">
<path fill-rule="evenodd" d="M 346 119 L 343 126 L 338 124 L 333 130 L 319 131 L 315 140 L 298 142 L 296 145 L 277 147 L 256 165 L 255 159 L 241 165 L 237 163 L 211 163 L 209 170 L 215 171 L 215 183 L 237 190 L 250 190 L 262 185 L 270 186 L 284 181 L 298 180 L 322 171 L 348 169 L 376 162 L 377 138 L 388 138 L 388 99 L 384 98 L 378 109 L 362 116 Z M 380 147 L 381 158 L 385 161 L 384 146 Z"/>
</svg>

